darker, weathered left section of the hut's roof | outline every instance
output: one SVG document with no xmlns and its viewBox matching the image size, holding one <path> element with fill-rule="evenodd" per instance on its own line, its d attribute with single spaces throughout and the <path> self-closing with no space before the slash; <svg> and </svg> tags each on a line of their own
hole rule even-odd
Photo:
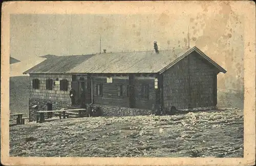
<svg viewBox="0 0 256 166">
<path fill-rule="evenodd" d="M 31 73 L 65 73 L 75 66 L 81 64 L 93 55 L 82 56 L 52 56 L 49 59 L 39 63 L 38 65 L 23 72 L 23 74 Z"/>
</svg>

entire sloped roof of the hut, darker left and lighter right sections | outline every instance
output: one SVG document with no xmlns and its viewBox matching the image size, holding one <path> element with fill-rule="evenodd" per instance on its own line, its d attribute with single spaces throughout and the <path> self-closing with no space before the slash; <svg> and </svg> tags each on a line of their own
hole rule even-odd
<svg viewBox="0 0 256 166">
<path fill-rule="evenodd" d="M 162 73 L 196 51 L 220 72 L 226 70 L 197 47 L 99 53 L 84 56 L 51 56 L 24 72 L 30 73 Z"/>
</svg>

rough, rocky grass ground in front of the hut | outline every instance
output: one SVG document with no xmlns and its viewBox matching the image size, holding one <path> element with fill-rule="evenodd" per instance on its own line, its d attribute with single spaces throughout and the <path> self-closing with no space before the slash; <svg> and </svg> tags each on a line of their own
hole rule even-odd
<svg viewBox="0 0 256 166">
<path fill-rule="evenodd" d="M 243 157 L 243 109 L 11 126 L 10 156 Z"/>
</svg>

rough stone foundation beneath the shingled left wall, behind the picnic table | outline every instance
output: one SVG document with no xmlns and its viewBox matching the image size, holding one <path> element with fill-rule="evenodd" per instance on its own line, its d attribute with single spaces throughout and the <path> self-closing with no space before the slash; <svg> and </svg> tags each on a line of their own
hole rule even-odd
<svg viewBox="0 0 256 166">
<path fill-rule="evenodd" d="M 50 99 L 29 99 L 29 121 L 36 120 L 36 110 L 32 108 L 33 105 L 37 105 L 37 110 L 47 110 L 47 103 L 52 103 L 53 110 L 59 110 L 61 108 L 67 108 L 71 106 L 71 102 L 56 101 Z"/>
</svg>

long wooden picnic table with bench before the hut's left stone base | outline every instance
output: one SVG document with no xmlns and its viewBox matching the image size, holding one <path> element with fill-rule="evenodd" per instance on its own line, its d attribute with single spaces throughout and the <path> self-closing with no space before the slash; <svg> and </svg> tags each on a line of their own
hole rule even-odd
<svg viewBox="0 0 256 166">
<path fill-rule="evenodd" d="M 85 115 L 86 113 L 86 109 L 80 108 L 80 109 L 66 109 L 66 108 L 61 108 L 60 110 L 41 110 L 41 111 L 37 111 L 37 113 L 39 114 L 39 116 L 37 115 L 36 118 L 36 123 L 40 122 L 44 122 L 45 121 L 45 115 L 44 113 L 54 113 L 55 115 L 59 116 L 59 119 L 61 119 L 61 113 L 63 116 L 63 119 L 69 118 L 69 114 L 74 114 L 78 112 L 78 115 Z M 67 113 L 67 114 L 66 114 Z"/>
</svg>

